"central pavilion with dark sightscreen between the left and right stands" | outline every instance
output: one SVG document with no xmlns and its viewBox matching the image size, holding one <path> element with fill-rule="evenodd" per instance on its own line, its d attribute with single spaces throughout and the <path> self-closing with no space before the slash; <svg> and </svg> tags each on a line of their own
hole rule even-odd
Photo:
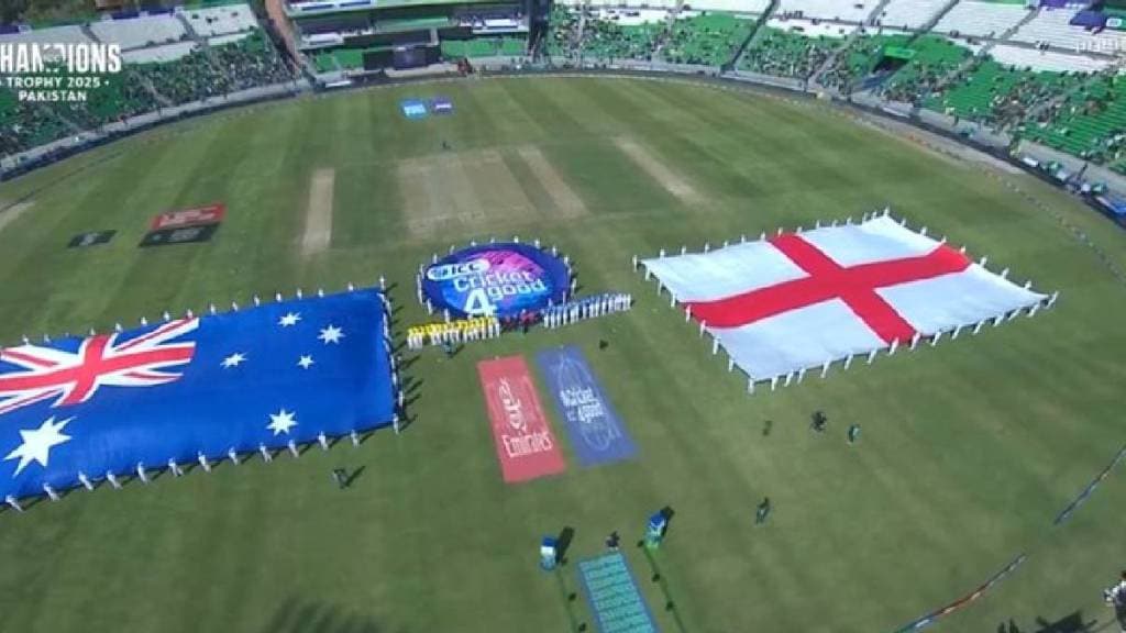
<svg viewBox="0 0 1126 633">
<path fill-rule="evenodd" d="M 533 0 L 285 0 L 291 50 L 325 83 L 528 51 Z"/>
</svg>

